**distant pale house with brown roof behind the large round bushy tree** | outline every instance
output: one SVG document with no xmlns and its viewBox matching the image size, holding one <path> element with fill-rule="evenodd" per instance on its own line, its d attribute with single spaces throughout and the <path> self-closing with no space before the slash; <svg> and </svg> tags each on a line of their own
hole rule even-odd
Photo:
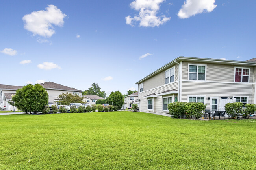
<svg viewBox="0 0 256 170">
<path fill-rule="evenodd" d="M 45 88 L 49 95 L 49 102 L 57 104 L 58 96 L 61 93 L 73 93 L 77 95 L 82 95 L 82 90 L 78 90 L 75 88 L 70 88 L 68 86 L 63 86 L 61 84 L 57 84 L 54 82 L 45 82 L 41 83 L 41 86 Z M 13 110 L 13 106 L 11 106 L 8 101 L 11 101 L 12 95 L 15 95 L 16 90 L 22 88 L 22 86 L 12 86 L 12 85 L 4 85 L 0 84 L 0 105 L 6 106 L 7 110 Z"/>
</svg>

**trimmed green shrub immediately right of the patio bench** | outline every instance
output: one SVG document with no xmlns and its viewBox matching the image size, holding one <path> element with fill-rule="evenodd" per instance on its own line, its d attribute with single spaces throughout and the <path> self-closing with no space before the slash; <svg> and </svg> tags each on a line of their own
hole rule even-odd
<svg viewBox="0 0 256 170">
<path fill-rule="evenodd" d="M 243 113 L 243 103 L 241 102 L 236 102 L 236 103 L 227 103 L 225 105 L 225 110 L 227 115 L 231 119 L 236 119 L 238 115 L 241 115 Z"/>
</svg>

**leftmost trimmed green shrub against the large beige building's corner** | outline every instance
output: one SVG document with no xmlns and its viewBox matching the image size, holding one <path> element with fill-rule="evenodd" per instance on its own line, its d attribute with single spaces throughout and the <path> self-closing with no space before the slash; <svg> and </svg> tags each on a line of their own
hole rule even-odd
<svg viewBox="0 0 256 170">
<path fill-rule="evenodd" d="M 185 104 L 186 102 L 174 102 L 168 104 L 169 113 L 173 115 L 173 118 L 180 118 L 182 115 L 185 115 Z"/>
</svg>

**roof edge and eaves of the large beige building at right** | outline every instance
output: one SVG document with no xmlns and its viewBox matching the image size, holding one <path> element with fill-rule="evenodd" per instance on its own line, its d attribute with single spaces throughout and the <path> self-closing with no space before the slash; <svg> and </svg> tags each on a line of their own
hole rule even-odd
<svg viewBox="0 0 256 170">
<path fill-rule="evenodd" d="M 253 59 L 251 59 L 253 60 Z M 205 63 L 217 63 L 217 64 L 239 64 L 239 65 L 243 65 L 243 66 L 256 66 L 256 63 L 253 61 L 234 61 L 234 60 L 221 60 L 221 59 L 213 59 L 213 58 L 198 58 L 198 57 L 177 57 L 174 60 L 172 60 L 171 62 L 165 64 L 164 66 L 162 66 L 161 68 L 157 69 L 156 71 L 154 71 L 153 73 L 150 73 L 149 75 L 147 75 L 146 77 L 144 77 L 143 79 L 139 80 L 138 82 L 136 82 L 135 84 L 140 84 L 143 81 L 149 79 L 150 77 L 153 77 L 154 75 L 160 73 L 161 71 L 164 71 L 165 69 L 169 68 L 170 66 L 172 66 L 173 64 L 175 64 L 175 62 L 178 61 L 190 61 L 190 62 L 205 62 Z"/>
</svg>

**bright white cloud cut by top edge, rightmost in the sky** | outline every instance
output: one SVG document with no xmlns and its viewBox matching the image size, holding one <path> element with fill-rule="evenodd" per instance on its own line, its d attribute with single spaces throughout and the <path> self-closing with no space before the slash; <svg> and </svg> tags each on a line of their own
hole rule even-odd
<svg viewBox="0 0 256 170">
<path fill-rule="evenodd" d="M 199 13 L 211 12 L 217 5 L 215 0 L 186 0 L 178 12 L 179 18 L 189 18 Z"/>
</svg>

